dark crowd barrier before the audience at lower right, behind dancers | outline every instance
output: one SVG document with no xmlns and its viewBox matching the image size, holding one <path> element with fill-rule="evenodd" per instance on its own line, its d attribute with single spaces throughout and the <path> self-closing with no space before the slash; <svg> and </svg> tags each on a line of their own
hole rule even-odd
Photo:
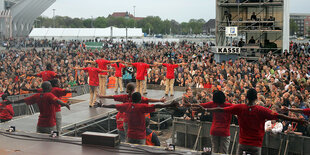
<svg viewBox="0 0 310 155">
<path fill-rule="evenodd" d="M 180 118 L 173 120 L 172 143 L 176 146 L 203 150 L 211 147 L 211 122 L 188 121 Z M 235 154 L 239 140 L 239 126 L 230 126 L 229 154 Z M 198 136 L 197 136 L 198 135 Z M 272 134 L 266 132 L 262 154 L 264 155 L 308 155 L 310 154 L 310 138 L 293 134 Z"/>
</svg>

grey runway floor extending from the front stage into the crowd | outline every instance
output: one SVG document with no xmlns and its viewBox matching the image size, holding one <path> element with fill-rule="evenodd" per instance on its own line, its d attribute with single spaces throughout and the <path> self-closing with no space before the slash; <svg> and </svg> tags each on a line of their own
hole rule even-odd
<svg viewBox="0 0 310 155">
<path fill-rule="evenodd" d="M 113 89 L 107 90 L 107 95 L 114 95 Z M 164 97 L 163 90 L 148 90 L 148 94 L 145 97 L 160 99 Z M 175 91 L 173 97 L 167 97 L 167 101 L 181 97 L 183 92 Z M 86 122 L 94 121 L 108 116 L 110 113 L 116 112 L 115 109 L 107 108 L 89 108 L 89 94 L 73 97 L 73 100 L 81 100 L 79 103 L 71 105 L 71 110 L 62 107 L 62 128 L 67 129 L 75 124 L 83 124 Z M 102 99 L 103 103 L 118 104 L 113 99 Z M 6 130 L 9 126 L 15 126 L 17 131 L 23 131 L 27 133 L 36 132 L 36 124 L 38 121 L 39 113 L 34 115 L 27 115 L 13 119 L 9 122 L 0 123 L 0 129 Z M 1 154 L 1 153 L 0 153 Z"/>
</svg>

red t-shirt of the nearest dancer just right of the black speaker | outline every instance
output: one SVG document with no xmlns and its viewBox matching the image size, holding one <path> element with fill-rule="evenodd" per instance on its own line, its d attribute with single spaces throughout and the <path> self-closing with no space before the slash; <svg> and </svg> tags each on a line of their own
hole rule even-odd
<svg viewBox="0 0 310 155">
<path fill-rule="evenodd" d="M 117 104 L 116 109 L 126 112 L 128 117 L 127 137 L 131 139 L 145 139 L 145 113 L 155 111 L 154 105 L 124 103 Z"/>
</svg>

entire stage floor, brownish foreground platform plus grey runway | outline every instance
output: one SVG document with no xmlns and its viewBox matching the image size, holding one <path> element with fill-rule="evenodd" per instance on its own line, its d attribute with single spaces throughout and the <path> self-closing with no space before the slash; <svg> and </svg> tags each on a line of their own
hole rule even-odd
<svg viewBox="0 0 310 155">
<path fill-rule="evenodd" d="M 183 91 L 175 91 L 174 97 L 166 97 L 167 102 L 180 98 Z M 107 95 L 114 95 L 113 90 L 108 90 Z M 160 99 L 164 97 L 163 90 L 148 90 L 147 98 Z M 62 129 L 72 132 L 77 126 L 86 126 L 96 120 L 107 118 L 115 114 L 115 109 L 89 108 L 89 94 L 73 97 L 71 100 L 77 103 L 71 105 L 71 110 L 62 108 Z M 79 101 L 79 102 L 78 102 Z M 103 99 L 103 103 L 118 104 L 113 99 Z M 38 134 L 36 124 L 39 113 L 27 115 L 0 124 L 0 154 L 14 155 L 92 155 L 92 154 L 196 154 L 190 150 L 178 148 L 176 152 L 165 151 L 163 147 L 149 147 L 122 143 L 116 148 L 104 146 L 82 145 L 80 137 L 60 136 L 51 138 L 47 134 Z M 6 132 L 9 126 L 15 126 L 17 132 Z"/>
</svg>

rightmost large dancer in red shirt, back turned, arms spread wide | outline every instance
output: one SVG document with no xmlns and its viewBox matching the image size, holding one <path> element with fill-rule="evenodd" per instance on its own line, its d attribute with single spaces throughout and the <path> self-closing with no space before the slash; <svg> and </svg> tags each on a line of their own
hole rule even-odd
<svg viewBox="0 0 310 155">
<path fill-rule="evenodd" d="M 225 108 L 200 108 L 209 112 L 227 112 L 238 116 L 240 133 L 237 155 L 242 155 L 244 152 L 251 155 L 261 155 L 266 120 L 282 119 L 301 124 L 307 123 L 304 119 L 290 118 L 256 105 L 257 92 L 255 89 L 248 90 L 247 99 L 247 104 L 238 104 Z"/>
</svg>

